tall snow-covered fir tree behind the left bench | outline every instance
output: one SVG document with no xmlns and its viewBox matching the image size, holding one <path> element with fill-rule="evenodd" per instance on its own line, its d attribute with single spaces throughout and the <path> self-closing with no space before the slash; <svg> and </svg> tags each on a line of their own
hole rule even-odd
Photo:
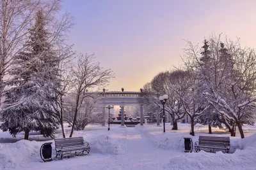
<svg viewBox="0 0 256 170">
<path fill-rule="evenodd" d="M 44 11 L 36 13 L 35 25 L 29 30 L 29 40 L 15 62 L 7 85 L 4 105 L 1 110 L 1 129 L 15 136 L 24 131 L 40 131 L 51 136 L 58 126 L 59 116 L 52 107 L 58 85 L 56 65 L 58 57 L 47 41 Z"/>
</svg>

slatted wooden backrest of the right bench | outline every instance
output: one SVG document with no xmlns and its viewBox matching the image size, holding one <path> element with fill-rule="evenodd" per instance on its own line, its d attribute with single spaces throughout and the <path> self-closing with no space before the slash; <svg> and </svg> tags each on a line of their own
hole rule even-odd
<svg viewBox="0 0 256 170">
<path fill-rule="evenodd" d="M 230 146 L 230 138 L 219 136 L 199 136 L 198 145 Z"/>
</svg>

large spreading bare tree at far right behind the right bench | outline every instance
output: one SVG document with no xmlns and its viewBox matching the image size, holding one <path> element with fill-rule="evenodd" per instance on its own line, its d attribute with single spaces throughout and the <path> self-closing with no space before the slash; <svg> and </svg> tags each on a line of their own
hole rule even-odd
<svg viewBox="0 0 256 170">
<path fill-rule="evenodd" d="M 218 111 L 231 136 L 236 136 L 237 126 L 244 138 L 242 124 L 253 124 L 255 110 L 255 50 L 241 48 L 239 41 L 221 41 L 221 36 L 207 41 L 207 57 L 202 57 L 198 45 L 188 42 L 185 64 L 203 82 L 205 99 Z"/>
</svg>

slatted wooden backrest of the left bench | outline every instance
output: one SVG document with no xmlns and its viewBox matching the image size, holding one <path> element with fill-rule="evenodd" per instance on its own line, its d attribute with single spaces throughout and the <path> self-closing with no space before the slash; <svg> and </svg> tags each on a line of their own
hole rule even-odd
<svg viewBox="0 0 256 170">
<path fill-rule="evenodd" d="M 60 138 L 55 139 L 55 148 L 68 148 L 72 146 L 84 146 L 84 138 Z"/>
</svg>

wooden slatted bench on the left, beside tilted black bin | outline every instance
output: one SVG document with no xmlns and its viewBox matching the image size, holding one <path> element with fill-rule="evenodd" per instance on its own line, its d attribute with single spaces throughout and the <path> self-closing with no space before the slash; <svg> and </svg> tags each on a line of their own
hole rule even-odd
<svg viewBox="0 0 256 170">
<path fill-rule="evenodd" d="M 63 158 L 63 155 L 79 155 L 79 154 L 88 154 L 90 152 L 90 146 L 88 142 L 84 142 L 83 137 L 77 138 L 61 138 L 54 139 L 55 141 L 55 150 L 56 157 L 58 155 Z"/>
</svg>

